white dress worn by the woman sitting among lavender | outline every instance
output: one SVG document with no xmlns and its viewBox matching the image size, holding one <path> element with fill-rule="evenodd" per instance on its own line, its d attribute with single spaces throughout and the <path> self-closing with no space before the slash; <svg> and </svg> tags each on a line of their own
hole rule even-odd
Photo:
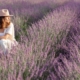
<svg viewBox="0 0 80 80">
<path fill-rule="evenodd" d="M 4 36 L 6 33 L 12 35 L 12 41 L 9 39 L 1 39 L 0 40 L 0 49 L 3 51 L 4 54 L 9 52 L 12 46 L 18 45 L 18 42 L 15 39 L 15 32 L 14 32 L 14 25 L 11 22 L 8 28 L 4 30 L 3 33 L 0 33 L 0 36 Z"/>
</svg>

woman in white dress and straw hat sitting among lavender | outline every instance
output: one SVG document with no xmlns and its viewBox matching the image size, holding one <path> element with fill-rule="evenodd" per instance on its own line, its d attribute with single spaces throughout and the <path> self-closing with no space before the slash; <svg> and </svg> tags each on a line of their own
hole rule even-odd
<svg viewBox="0 0 80 80">
<path fill-rule="evenodd" d="M 4 54 L 11 50 L 12 46 L 17 45 L 14 35 L 14 25 L 10 20 L 13 15 L 9 14 L 8 9 L 0 10 L 0 49 Z"/>
</svg>

